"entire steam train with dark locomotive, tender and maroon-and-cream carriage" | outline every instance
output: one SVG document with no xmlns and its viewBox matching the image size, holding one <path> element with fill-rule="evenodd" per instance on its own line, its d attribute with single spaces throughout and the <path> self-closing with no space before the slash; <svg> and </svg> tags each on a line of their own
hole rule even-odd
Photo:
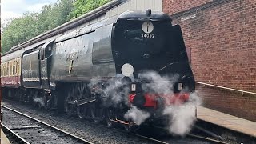
<svg viewBox="0 0 256 144">
<path fill-rule="evenodd" d="M 162 12 L 126 11 L 12 50 L 2 55 L 3 95 L 126 130 L 163 122 L 164 107 L 194 92 L 182 30 L 171 22 Z M 136 122 L 131 109 L 147 117 Z"/>
</svg>

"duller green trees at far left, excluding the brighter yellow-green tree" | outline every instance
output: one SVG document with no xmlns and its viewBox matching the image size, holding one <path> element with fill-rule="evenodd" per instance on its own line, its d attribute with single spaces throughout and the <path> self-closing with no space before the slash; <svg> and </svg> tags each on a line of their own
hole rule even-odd
<svg viewBox="0 0 256 144">
<path fill-rule="evenodd" d="M 73 2 L 74 0 L 59 0 L 54 6 L 43 6 L 41 13 L 26 13 L 22 14 L 21 18 L 12 20 L 2 29 L 2 53 L 67 22 Z"/>
</svg>

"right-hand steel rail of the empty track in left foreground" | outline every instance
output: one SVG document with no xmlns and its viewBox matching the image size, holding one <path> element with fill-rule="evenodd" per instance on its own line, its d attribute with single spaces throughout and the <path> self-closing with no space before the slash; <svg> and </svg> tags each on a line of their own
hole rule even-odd
<svg viewBox="0 0 256 144">
<path fill-rule="evenodd" d="M 6 107 L 6 106 L 2 106 L 2 107 L 5 108 L 5 109 L 7 109 L 7 110 L 11 110 L 11 111 L 13 111 L 13 112 L 15 112 L 15 113 L 17 113 L 17 114 L 20 114 L 20 115 L 22 115 L 22 116 L 25 116 L 26 118 L 33 119 L 35 122 L 39 122 L 39 123 L 42 123 L 42 124 L 45 125 L 45 126 L 49 126 L 50 128 L 52 128 L 52 129 L 54 129 L 54 130 L 58 130 L 58 131 L 60 131 L 60 132 L 62 132 L 62 133 L 64 133 L 64 134 L 66 134 L 66 135 L 69 135 L 70 137 L 77 138 L 77 139 L 78 139 L 79 141 L 81 141 L 81 142 L 85 142 L 85 143 L 87 143 L 87 144 L 94 144 L 94 143 L 92 143 L 92 142 L 86 141 L 86 140 L 83 139 L 83 138 L 79 138 L 78 136 L 75 136 L 74 134 L 70 134 L 70 133 L 68 133 L 68 132 L 66 132 L 66 131 L 64 131 L 64 130 L 61 130 L 61 129 L 55 127 L 55 126 L 51 126 L 51 125 L 47 124 L 46 122 L 42 122 L 42 121 L 40 121 L 40 120 L 38 120 L 38 119 L 36 119 L 36 118 L 32 118 L 32 117 L 30 117 L 30 116 L 27 115 L 27 114 L 22 114 L 21 112 L 19 112 L 19 111 L 17 111 L 17 110 L 13 110 L 13 109 L 11 109 L 11 108 L 9 108 L 9 107 Z"/>
</svg>

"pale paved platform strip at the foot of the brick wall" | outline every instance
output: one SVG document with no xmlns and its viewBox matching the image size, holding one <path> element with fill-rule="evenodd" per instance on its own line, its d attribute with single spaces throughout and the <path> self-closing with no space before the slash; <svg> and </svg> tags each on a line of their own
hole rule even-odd
<svg viewBox="0 0 256 144">
<path fill-rule="evenodd" d="M 238 118 L 217 110 L 211 110 L 203 106 L 197 106 L 197 114 L 198 119 L 256 138 L 256 122 Z"/>
</svg>

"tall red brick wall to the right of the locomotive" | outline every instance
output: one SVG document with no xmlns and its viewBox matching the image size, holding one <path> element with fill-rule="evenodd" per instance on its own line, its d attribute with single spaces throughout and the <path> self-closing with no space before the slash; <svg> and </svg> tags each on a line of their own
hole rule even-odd
<svg viewBox="0 0 256 144">
<path fill-rule="evenodd" d="M 164 12 L 174 18 L 174 24 L 182 26 L 196 81 L 256 92 L 255 0 L 188 0 L 190 5 L 184 6 L 178 1 L 163 2 Z M 243 118 L 254 117 L 256 122 L 256 112 L 246 112 L 255 110 L 256 95 L 245 101 L 241 94 L 200 90 L 205 94 L 205 106 L 234 115 L 241 113 L 238 115 Z"/>
</svg>

